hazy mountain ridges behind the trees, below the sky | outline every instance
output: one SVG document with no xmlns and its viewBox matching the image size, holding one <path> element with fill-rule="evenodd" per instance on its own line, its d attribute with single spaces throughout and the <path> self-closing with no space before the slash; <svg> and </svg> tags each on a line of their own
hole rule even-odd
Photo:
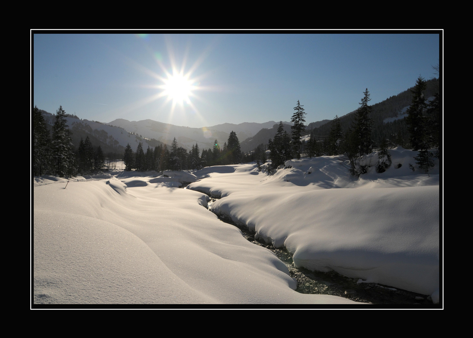
<svg viewBox="0 0 473 338">
<path fill-rule="evenodd" d="M 371 118 L 373 119 L 373 134 L 375 142 L 381 139 L 382 135 L 392 135 L 393 133 L 407 133 L 404 131 L 405 109 L 411 104 L 411 89 L 407 89 L 402 93 L 386 98 L 386 100 L 372 105 Z M 427 81 L 427 89 L 424 95 L 429 98 L 438 92 L 438 81 L 436 79 Z M 45 121 L 48 123 L 48 129 L 54 123 L 55 115 L 41 110 Z M 346 131 L 354 117 L 354 113 L 350 112 L 344 116 L 340 116 L 340 122 Z M 123 155 L 124 147 L 130 143 L 133 151 L 136 151 L 138 142 L 143 143 L 146 151 L 147 147 L 154 148 L 160 144 L 166 143 L 168 146 L 176 138 L 179 146 L 187 150 L 191 150 L 192 146 L 197 143 L 200 150 L 213 148 L 214 140 L 217 140 L 221 147 L 227 142 L 228 135 L 231 131 L 236 132 L 238 140 L 241 144 L 241 150 L 244 152 L 254 150 L 259 144 L 267 144 L 268 139 L 273 138 L 276 134 L 279 122 L 269 121 L 265 123 L 244 122 L 238 125 L 224 123 L 221 125 L 213 125 L 210 127 L 190 128 L 185 126 L 170 125 L 153 120 L 128 121 L 124 119 L 116 119 L 108 124 L 97 121 L 81 120 L 77 116 L 68 115 L 66 117 L 68 125 L 72 130 L 72 142 L 75 151 L 79 146 L 80 138 L 85 139 L 89 136 L 94 146 L 100 145 L 105 156 L 114 156 L 119 158 Z M 324 139 L 330 133 L 331 120 L 323 120 L 312 122 L 306 127 L 306 133 L 310 133 L 315 129 L 315 133 L 319 139 Z M 292 123 L 283 122 L 284 130 L 290 133 Z M 401 131 L 401 132 L 400 132 Z M 108 154 L 108 155 L 107 155 Z"/>
</svg>

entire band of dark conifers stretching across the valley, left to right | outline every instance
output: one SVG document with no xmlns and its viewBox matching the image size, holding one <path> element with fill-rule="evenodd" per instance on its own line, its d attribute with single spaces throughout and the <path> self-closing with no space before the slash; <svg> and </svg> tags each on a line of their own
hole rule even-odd
<svg viewBox="0 0 473 338">
<path fill-rule="evenodd" d="M 133 152 L 130 144 L 125 148 L 123 153 L 125 170 L 201 169 L 205 166 L 237 164 L 242 161 L 264 163 L 267 157 L 266 150 L 269 150 L 272 169 L 283 165 L 286 160 L 300 159 L 301 156 L 343 154 L 345 165 L 350 173 L 360 175 L 367 172 L 366 158 L 375 147 L 378 149 L 377 170 L 382 172 L 391 164 L 387 149 L 400 145 L 419 151 L 419 155 L 415 157 L 416 164 L 428 173 L 429 168 L 433 166 L 433 157 L 441 156 L 440 94 L 438 90 L 434 94 L 434 99 L 428 102 L 424 95 L 426 87 L 427 81 L 419 76 L 415 87 L 411 90 L 412 100 L 406 112 L 407 118 L 395 120 L 374 129 L 372 106 L 368 105 L 371 99 L 366 89 L 359 103 L 360 107 L 349 116 L 351 124 L 348 128 L 343 127 L 341 119 L 335 116 L 328 135 L 321 138 L 318 135 L 320 130 L 315 128 L 312 129 L 310 138 L 302 141 L 306 129 L 304 125 L 306 112 L 298 100 L 296 107 L 293 108 L 291 132 L 284 130 L 284 125 L 280 122 L 274 138 L 269 139 L 267 145 L 259 144 L 249 154 L 242 153 L 240 142 L 234 131 L 229 134 L 227 142 L 222 147 L 218 140 L 215 140 L 213 148 L 203 150 L 201 154 L 197 143 L 188 152 L 178 145 L 175 138 L 170 149 L 167 149 L 166 144 L 160 144 L 154 149 L 148 146 L 146 153 L 142 143 L 139 142 L 136 153 Z M 88 136 L 85 140 L 81 137 L 78 154 L 77 156 L 74 154 L 72 133 L 68 128 L 66 116 L 68 114 L 60 106 L 50 135 L 43 114 L 36 106 L 33 109 L 34 176 L 73 176 L 77 173 L 91 173 L 105 167 L 101 147 L 93 147 Z M 396 132 L 394 133 L 393 130 Z M 378 144 L 373 139 L 377 139 Z M 436 149 L 436 151 L 429 151 L 431 149 Z M 410 167 L 414 169 L 412 165 Z"/>
</svg>

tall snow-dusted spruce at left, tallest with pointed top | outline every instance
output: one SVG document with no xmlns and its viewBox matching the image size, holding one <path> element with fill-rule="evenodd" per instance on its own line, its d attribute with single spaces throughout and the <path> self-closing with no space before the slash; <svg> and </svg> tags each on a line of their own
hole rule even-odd
<svg viewBox="0 0 473 338">
<path fill-rule="evenodd" d="M 72 152 L 71 132 L 66 121 L 66 112 L 59 106 L 56 111 L 56 120 L 53 125 L 53 171 L 60 177 L 72 176 L 75 174 L 75 156 Z"/>
</svg>

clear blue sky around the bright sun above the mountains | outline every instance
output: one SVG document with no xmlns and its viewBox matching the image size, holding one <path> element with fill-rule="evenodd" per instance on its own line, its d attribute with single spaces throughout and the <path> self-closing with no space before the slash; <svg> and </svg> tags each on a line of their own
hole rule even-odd
<svg viewBox="0 0 473 338">
<path fill-rule="evenodd" d="M 190 127 L 343 116 L 434 76 L 438 34 L 34 34 L 33 105 Z M 187 102 L 163 87 L 183 71 Z M 168 75 L 170 74 L 170 75 Z M 190 90 L 190 91 L 189 91 Z"/>
</svg>

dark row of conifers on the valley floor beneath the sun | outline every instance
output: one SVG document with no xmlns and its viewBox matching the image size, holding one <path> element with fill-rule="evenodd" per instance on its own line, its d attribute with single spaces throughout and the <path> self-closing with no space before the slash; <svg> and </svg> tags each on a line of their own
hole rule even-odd
<svg viewBox="0 0 473 338">
<path fill-rule="evenodd" d="M 171 143 L 170 149 L 167 148 L 167 144 L 158 145 L 154 149 L 148 146 L 146 153 L 141 142 L 138 143 L 136 152 L 133 152 L 128 143 L 123 153 L 123 163 L 126 171 L 198 170 L 207 166 L 238 164 L 242 162 L 242 156 L 240 142 L 236 133 L 232 131 L 221 149 L 219 142 L 215 140 L 213 149 L 203 150 L 202 153 L 198 143 L 192 145 L 192 149 L 188 152 L 179 146 L 176 138 Z"/>
</svg>

